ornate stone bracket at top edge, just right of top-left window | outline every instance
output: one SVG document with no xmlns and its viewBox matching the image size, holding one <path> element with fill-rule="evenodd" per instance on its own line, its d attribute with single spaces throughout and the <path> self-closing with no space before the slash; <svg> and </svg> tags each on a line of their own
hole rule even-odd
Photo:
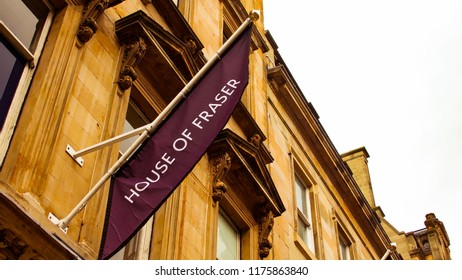
<svg viewBox="0 0 462 280">
<path fill-rule="evenodd" d="M 113 7 L 125 0 L 86 0 L 83 9 L 83 19 L 80 22 L 77 38 L 80 42 L 86 43 L 90 41 L 93 34 L 98 30 L 98 18 L 103 14 L 104 10 Z"/>
</svg>

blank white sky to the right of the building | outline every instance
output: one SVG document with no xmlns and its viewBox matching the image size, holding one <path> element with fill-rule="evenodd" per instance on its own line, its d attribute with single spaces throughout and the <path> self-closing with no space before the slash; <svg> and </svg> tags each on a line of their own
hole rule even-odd
<svg viewBox="0 0 462 280">
<path fill-rule="evenodd" d="M 462 259 L 462 1 L 264 0 L 265 28 L 339 153 L 365 146 L 400 231 L 443 221 Z"/>
</svg>

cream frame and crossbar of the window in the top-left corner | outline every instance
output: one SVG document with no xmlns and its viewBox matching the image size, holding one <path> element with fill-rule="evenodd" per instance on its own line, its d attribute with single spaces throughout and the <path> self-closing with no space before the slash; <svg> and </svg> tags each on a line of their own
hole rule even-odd
<svg viewBox="0 0 462 280">
<path fill-rule="evenodd" d="M 31 52 L 11 31 L 11 29 L 0 20 L 0 34 L 25 61 L 24 69 L 18 80 L 16 90 L 13 93 L 8 113 L 6 114 L 3 127 L 0 130 L 0 167 L 3 165 L 6 153 L 11 143 L 16 124 L 19 119 L 21 108 L 25 102 L 27 91 L 36 71 L 36 64 L 45 47 L 46 38 L 51 30 L 55 10 L 47 0 L 40 0 L 47 8 L 48 14 L 40 33 L 37 34 L 34 42 L 34 51 Z"/>
</svg>

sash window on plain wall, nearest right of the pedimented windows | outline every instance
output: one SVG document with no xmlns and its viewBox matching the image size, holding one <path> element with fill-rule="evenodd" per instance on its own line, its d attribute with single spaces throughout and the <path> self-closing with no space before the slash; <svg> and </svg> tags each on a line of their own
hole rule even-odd
<svg viewBox="0 0 462 280">
<path fill-rule="evenodd" d="M 295 192 L 298 212 L 298 235 L 302 238 L 308 248 L 312 252 L 315 252 L 310 189 L 297 175 L 295 175 Z"/>
</svg>

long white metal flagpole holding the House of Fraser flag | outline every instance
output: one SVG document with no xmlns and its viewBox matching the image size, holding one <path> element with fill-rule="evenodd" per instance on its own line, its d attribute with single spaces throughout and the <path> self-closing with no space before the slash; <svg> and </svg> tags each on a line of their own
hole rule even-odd
<svg viewBox="0 0 462 280">
<path fill-rule="evenodd" d="M 195 86 L 197 82 L 207 73 L 207 71 L 219 60 L 222 54 L 231 46 L 231 44 L 239 37 L 239 35 L 252 23 L 259 18 L 259 11 L 251 11 L 249 17 L 239 26 L 239 28 L 231 35 L 231 37 L 221 46 L 213 57 L 197 72 L 197 74 L 184 86 L 184 88 L 175 96 L 175 98 L 167 105 L 167 107 L 157 116 L 157 118 L 142 127 L 144 130 L 128 150 L 117 160 L 117 162 L 101 177 L 101 179 L 93 186 L 93 188 L 85 195 L 85 197 L 71 210 L 71 212 L 63 219 L 58 219 L 54 214 L 50 213 L 48 218 L 52 223 L 59 226 L 63 231 L 67 231 L 67 226 L 70 221 L 85 207 L 88 201 L 96 194 L 96 192 L 111 178 L 112 175 L 136 152 L 138 147 L 153 133 L 159 124 L 168 116 L 175 106 L 186 97 L 186 94 Z M 137 131 L 138 133 L 139 131 Z M 124 134 L 127 136 L 127 133 Z M 133 135 L 133 134 L 131 134 Z M 117 137 L 116 137 L 117 138 Z M 114 139 L 114 138 L 113 138 Z M 116 139 L 120 141 L 120 138 Z M 107 146 L 108 141 L 104 141 L 104 146 Z M 92 146 L 92 150 L 96 150 Z"/>
</svg>

